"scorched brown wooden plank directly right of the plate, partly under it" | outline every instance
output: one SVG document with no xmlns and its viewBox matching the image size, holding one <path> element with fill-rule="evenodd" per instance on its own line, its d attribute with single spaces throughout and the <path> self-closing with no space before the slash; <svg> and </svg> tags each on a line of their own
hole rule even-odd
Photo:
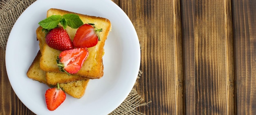
<svg viewBox="0 0 256 115">
<path fill-rule="evenodd" d="M 179 0 L 120 0 L 141 44 L 137 91 L 149 106 L 146 115 L 183 113 L 182 39 Z M 124 28 L 125 29 L 125 28 Z"/>
</svg>

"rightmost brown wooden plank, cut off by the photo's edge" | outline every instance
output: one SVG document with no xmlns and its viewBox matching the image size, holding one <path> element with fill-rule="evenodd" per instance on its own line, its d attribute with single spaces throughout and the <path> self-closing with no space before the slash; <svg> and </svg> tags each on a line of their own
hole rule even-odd
<svg viewBox="0 0 256 115">
<path fill-rule="evenodd" d="M 233 0 L 236 111 L 256 114 L 256 1 Z"/>
</svg>

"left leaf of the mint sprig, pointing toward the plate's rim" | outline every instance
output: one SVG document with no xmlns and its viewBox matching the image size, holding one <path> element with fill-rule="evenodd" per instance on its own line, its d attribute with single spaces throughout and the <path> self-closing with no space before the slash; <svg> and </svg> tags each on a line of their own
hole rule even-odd
<svg viewBox="0 0 256 115">
<path fill-rule="evenodd" d="M 43 28 L 50 30 L 55 28 L 60 23 L 61 19 L 61 15 L 52 15 L 45 20 L 40 21 L 38 24 Z"/>
</svg>

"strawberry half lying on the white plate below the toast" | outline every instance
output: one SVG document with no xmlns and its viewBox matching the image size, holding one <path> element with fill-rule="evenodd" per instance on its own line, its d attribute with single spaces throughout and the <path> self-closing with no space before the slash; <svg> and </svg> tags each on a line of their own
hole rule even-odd
<svg viewBox="0 0 256 115">
<path fill-rule="evenodd" d="M 50 111 L 54 111 L 58 106 L 60 106 L 66 99 L 66 93 L 57 84 L 57 88 L 47 89 L 45 92 L 45 101 L 47 108 Z"/>
</svg>

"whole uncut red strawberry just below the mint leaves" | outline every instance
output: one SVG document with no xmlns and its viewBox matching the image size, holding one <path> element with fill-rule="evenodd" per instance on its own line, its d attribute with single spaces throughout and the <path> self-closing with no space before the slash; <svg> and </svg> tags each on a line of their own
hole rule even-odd
<svg viewBox="0 0 256 115">
<path fill-rule="evenodd" d="M 45 41 L 49 47 L 56 50 L 64 51 L 74 48 L 70 36 L 63 27 L 56 27 L 50 30 L 45 36 Z"/>
</svg>

